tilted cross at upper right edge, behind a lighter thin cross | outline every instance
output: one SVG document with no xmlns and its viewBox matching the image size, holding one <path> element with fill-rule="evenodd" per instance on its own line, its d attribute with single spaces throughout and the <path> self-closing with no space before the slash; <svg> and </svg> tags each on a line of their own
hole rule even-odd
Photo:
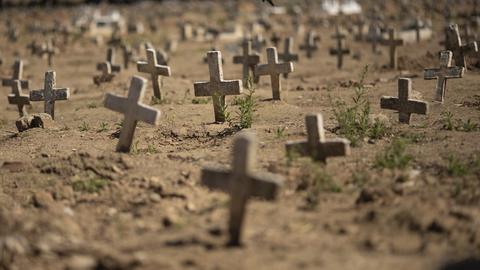
<svg viewBox="0 0 480 270">
<path fill-rule="evenodd" d="M 448 26 L 446 29 L 446 34 L 447 39 L 445 43 L 445 48 L 453 53 L 453 57 L 455 58 L 455 65 L 464 67 L 466 70 L 467 61 L 465 57 L 468 53 L 478 51 L 477 43 L 472 42 L 469 44 L 463 44 L 462 39 L 460 38 L 457 24 L 452 24 Z"/>
</svg>

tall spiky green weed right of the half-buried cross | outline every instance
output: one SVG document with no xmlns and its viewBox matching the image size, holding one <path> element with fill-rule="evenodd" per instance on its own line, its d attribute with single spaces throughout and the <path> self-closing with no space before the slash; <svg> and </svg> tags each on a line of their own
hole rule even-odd
<svg viewBox="0 0 480 270">
<path fill-rule="evenodd" d="M 360 74 L 359 83 L 354 85 L 355 93 L 351 105 L 345 101 L 335 101 L 330 93 L 328 95 L 337 121 L 336 133 L 350 140 L 352 146 L 359 146 L 366 137 L 378 140 L 388 133 L 385 123 L 380 119 L 374 121 L 371 119 L 371 107 L 365 87 L 367 73 L 368 66 L 365 66 Z"/>
</svg>

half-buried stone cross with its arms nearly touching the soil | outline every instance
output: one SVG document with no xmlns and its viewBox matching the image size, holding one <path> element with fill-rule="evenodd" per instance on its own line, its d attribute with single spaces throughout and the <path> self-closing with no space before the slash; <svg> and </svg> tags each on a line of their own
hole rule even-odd
<svg viewBox="0 0 480 270">
<path fill-rule="evenodd" d="M 305 117 L 307 125 L 307 140 L 287 142 L 286 150 L 289 156 L 309 156 L 314 161 L 327 162 L 329 157 L 350 155 L 350 141 L 347 139 L 326 139 L 321 114 L 309 114 Z"/>
</svg>

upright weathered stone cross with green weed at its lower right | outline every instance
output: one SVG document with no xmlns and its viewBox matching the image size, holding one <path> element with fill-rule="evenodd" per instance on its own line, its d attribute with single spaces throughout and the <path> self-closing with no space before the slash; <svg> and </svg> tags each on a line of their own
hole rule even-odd
<svg viewBox="0 0 480 270">
<path fill-rule="evenodd" d="M 208 69 L 210 72 L 209 82 L 197 82 L 193 84 L 195 96 L 211 96 L 215 122 L 225 122 L 225 96 L 240 95 L 243 91 L 241 80 L 224 80 L 222 67 L 222 53 L 210 51 L 207 53 Z"/>
</svg>

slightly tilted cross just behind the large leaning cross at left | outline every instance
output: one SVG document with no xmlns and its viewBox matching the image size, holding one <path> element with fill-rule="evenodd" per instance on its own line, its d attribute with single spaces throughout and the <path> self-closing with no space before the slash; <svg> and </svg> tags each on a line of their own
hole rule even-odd
<svg viewBox="0 0 480 270">
<path fill-rule="evenodd" d="M 157 55 L 154 49 L 147 50 L 147 62 L 139 61 L 137 63 L 138 72 L 149 73 L 152 78 L 153 94 L 159 100 L 162 100 L 160 92 L 160 83 L 158 76 L 171 76 L 170 67 L 159 65 L 157 62 Z"/>
</svg>

